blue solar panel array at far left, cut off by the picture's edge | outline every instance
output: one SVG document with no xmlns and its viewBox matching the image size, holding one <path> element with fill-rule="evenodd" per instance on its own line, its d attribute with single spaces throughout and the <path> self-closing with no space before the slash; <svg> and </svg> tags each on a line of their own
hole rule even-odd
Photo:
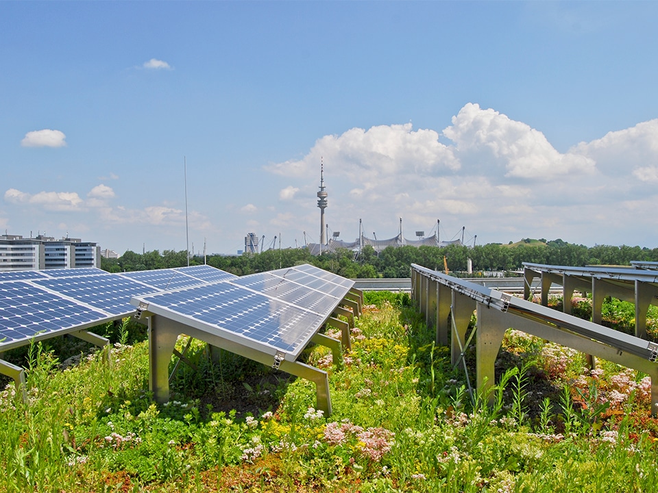
<svg viewBox="0 0 658 493">
<path fill-rule="evenodd" d="M 99 268 L 0 273 L 0 351 L 134 312 L 136 294 L 236 277 L 210 266 L 107 273 Z"/>
</svg>

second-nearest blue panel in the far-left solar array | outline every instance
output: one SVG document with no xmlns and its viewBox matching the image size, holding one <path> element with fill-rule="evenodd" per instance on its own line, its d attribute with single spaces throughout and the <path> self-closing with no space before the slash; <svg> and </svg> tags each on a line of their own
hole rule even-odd
<svg viewBox="0 0 658 493">
<path fill-rule="evenodd" d="M 110 273 L 84 275 L 82 277 L 35 279 L 32 282 L 42 288 L 69 296 L 80 303 L 102 309 L 113 315 L 130 314 L 132 312 L 131 296 L 158 292 L 156 288 L 144 286 L 127 277 Z"/>
</svg>

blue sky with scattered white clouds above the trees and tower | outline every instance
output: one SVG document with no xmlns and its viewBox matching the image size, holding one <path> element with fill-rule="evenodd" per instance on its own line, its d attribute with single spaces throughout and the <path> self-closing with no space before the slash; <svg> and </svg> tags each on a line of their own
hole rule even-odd
<svg viewBox="0 0 658 493">
<path fill-rule="evenodd" d="M 658 2 L 0 1 L 0 230 L 658 243 Z M 440 221 L 440 223 L 439 223 Z M 276 241 L 275 241 L 276 236 Z"/>
</svg>

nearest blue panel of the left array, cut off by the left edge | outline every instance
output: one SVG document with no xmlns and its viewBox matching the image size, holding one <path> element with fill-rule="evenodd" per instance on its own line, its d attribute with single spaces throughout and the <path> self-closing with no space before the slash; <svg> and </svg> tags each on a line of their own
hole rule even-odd
<svg viewBox="0 0 658 493">
<path fill-rule="evenodd" d="M 21 281 L 0 283 L 0 345 L 16 346 L 40 333 L 101 323 L 108 314 Z"/>
</svg>

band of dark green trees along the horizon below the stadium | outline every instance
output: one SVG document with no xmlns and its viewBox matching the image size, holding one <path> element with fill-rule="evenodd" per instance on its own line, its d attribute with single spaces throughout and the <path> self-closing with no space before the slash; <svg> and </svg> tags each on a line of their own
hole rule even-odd
<svg viewBox="0 0 658 493">
<path fill-rule="evenodd" d="M 411 264 L 419 264 L 434 270 L 443 270 L 445 257 L 451 273 L 465 275 L 468 259 L 472 262 L 473 275 L 485 271 L 511 271 L 522 268 L 523 262 L 564 266 L 630 265 L 631 260 L 658 262 L 658 248 L 629 247 L 622 245 L 596 245 L 586 247 L 563 240 L 541 242 L 523 240 L 519 244 L 489 243 L 466 247 L 387 247 L 377 253 L 371 246 L 355 253 L 339 250 L 311 255 L 306 249 L 268 250 L 243 255 L 196 255 L 190 265 L 207 263 L 236 275 L 247 275 L 299 264 L 312 264 L 332 273 L 351 279 L 374 277 L 409 277 Z M 150 270 L 182 267 L 187 265 L 186 251 L 164 250 L 135 253 L 126 251 L 118 259 L 101 259 L 101 268 L 109 272 Z"/>
</svg>

